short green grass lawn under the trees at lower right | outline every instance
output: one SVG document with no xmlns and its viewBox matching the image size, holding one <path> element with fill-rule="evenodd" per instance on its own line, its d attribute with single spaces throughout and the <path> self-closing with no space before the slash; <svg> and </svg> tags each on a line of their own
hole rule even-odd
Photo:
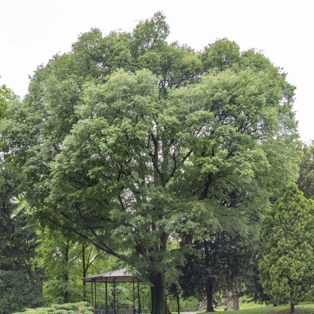
<svg viewBox="0 0 314 314">
<path fill-rule="evenodd" d="M 217 312 L 224 312 L 224 306 L 217 308 Z M 286 314 L 290 312 L 290 305 L 283 306 L 265 306 L 256 303 L 240 303 L 240 310 L 238 311 L 229 311 L 229 313 L 234 314 Z M 295 305 L 295 313 L 309 313 L 314 314 L 314 302 L 302 302 L 298 305 Z"/>
</svg>

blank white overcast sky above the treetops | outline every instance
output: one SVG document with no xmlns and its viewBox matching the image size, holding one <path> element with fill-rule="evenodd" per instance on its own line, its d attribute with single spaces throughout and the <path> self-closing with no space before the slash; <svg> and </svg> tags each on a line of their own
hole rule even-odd
<svg viewBox="0 0 314 314">
<path fill-rule="evenodd" d="M 288 73 L 297 87 L 300 137 L 314 139 L 312 1 L 0 0 L 0 84 L 23 97 L 29 75 L 57 52 L 68 52 L 81 32 L 98 27 L 131 31 L 161 10 L 168 41 L 196 50 L 227 37 L 241 51 L 256 48 Z"/>
</svg>

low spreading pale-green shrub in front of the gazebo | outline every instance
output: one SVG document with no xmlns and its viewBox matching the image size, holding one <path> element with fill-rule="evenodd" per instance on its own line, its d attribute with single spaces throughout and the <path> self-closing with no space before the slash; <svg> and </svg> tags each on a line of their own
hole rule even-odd
<svg viewBox="0 0 314 314">
<path fill-rule="evenodd" d="M 49 307 L 38 307 L 35 309 L 25 309 L 23 312 L 14 314 L 91 314 L 92 307 L 86 302 L 52 304 Z"/>
</svg>

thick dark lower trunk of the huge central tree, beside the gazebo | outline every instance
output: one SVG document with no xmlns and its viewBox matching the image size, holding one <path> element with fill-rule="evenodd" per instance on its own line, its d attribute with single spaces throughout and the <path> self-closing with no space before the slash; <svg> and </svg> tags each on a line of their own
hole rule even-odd
<svg viewBox="0 0 314 314">
<path fill-rule="evenodd" d="M 151 282 L 154 286 L 152 295 L 152 314 L 170 314 L 167 305 L 166 283 L 164 274 L 152 273 Z"/>
</svg>

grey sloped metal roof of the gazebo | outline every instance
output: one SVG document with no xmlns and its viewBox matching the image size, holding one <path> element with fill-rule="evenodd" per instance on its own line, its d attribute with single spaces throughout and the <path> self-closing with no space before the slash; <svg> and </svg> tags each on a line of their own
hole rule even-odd
<svg viewBox="0 0 314 314">
<path fill-rule="evenodd" d="M 89 276 L 82 278 L 87 282 L 142 282 L 140 279 L 134 277 L 136 272 L 132 272 L 130 269 L 122 268 L 115 271 Z"/>
</svg>

